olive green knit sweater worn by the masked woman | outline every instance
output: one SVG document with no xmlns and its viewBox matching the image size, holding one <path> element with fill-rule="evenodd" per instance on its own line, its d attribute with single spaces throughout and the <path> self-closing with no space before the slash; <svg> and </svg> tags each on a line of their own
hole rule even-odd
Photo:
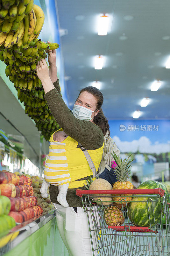
<svg viewBox="0 0 170 256">
<path fill-rule="evenodd" d="M 76 118 L 61 98 L 59 80 L 57 79 L 53 85 L 55 89 L 47 92 L 44 98 L 56 122 L 68 136 L 81 143 L 84 148 L 89 150 L 101 148 L 103 145 L 103 132 L 100 127 L 90 121 Z M 87 177 L 79 180 L 86 179 Z M 86 188 L 68 188 L 66 200 L 69 206 L 82 207 L 81 198 L 75 194 L 76 189 Z M 49 193 L 51 201 L 59 204 L 57 201 L 58 186 L 50 184 Z"/>
</svg>

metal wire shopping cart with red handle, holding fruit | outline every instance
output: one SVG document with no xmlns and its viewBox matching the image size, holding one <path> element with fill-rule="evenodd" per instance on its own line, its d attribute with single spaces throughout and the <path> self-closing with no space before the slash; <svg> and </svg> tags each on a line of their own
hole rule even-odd
<svg viewBox="0 0 170 256">
<path fill-rule="evenodd" d="M 106 197 L 109 199 L 113 194 L 117 195 L 112 196 L 113 200 L 115 197 L 123 197 L 119 204 L 124 216 L 122 226 L 108 226 L 104 220 L 104 211 L 108 206 L 103 205 L 103 202 L 107 200 Z M 150 207 L 153 210 L 154 202 L 160 202 L 160 212 L 162 212 L 162 216 L 164 214 L 164 217 L 159 223 L 155 223 L 154 219 L 153 226 L 149 216 L 148 227 L 135 227 L 129 218 L 131 201 L 127 201 L 127 196 L 124 194 L 132 194 L 131 197 L 145 197 L 145 199 L 146 195 L 144 194 L 147 194 L 147 200 L 140 199 L 140 201 L 133 202 L 146 202 L 148 214 L 150 214 Z M 149 194 L 152 195 L 149 196 Z M 81 197 L 84 211 L 87 213 L 94 256 L 170 256 L 170 204 L 167 203 L 168 198 L 166 199 L 163 189 L 77 189 L 76 195 Z M 103 201 L 100 199 L 100 195 L 104 198 Z M 115 203 L 117 202 L 115 201 Z"/>
</svg>

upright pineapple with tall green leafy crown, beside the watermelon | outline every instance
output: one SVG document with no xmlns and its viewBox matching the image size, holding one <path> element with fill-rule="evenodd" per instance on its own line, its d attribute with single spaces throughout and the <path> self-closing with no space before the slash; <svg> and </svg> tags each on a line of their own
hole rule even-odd
<svg viewBox="0 0 170 256">
<path fill-rule="evenodd" d="M 111 154 L 112 155 L 112 154 Z M 113 152 L 112 155 L 115 159 L 115 162 L 117 164 L 117 167 L 115 167 L 115 176 L 117 177 L 117 182 L 115 182 L 113 184 L 113 189 L 133 189 L 133 185 L 131 184 L 130 181 L 128 181 L 130 174 L 131 174 L 131 166 L 130 163 L 133 161 L 128 161 L 130 156 L 128 157 L 128 159 L 124 159 L 122 162 L 122 159 L 120 159 L 120 157 Z M 113 195 L 116 196 L 116 195 Z M 125 199 L 126 201 L 131 201 L 132 197 L 127 197 L 130 196 L 130 194 L 124 194 L 124 195 L 117 195 L 117 196 L 126 196 L 126 197 L 114 197 L 113 200 L 114 201 L 120 201 L 120 202 L 116 202 L 117 204 L 121 204 L 121 200 Z M 122 201 L 123 205 L 126 205 L 126 203 Z"/>
</svg>

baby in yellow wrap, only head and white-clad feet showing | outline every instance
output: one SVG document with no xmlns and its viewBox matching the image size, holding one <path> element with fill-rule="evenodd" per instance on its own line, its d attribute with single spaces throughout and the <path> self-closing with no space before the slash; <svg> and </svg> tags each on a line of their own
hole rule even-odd
<svg viewBox="0 0 170 256">
<path fill-rule="evenodd" d="M 62 142 L 67 137 L 68 137 L 68 135 L 64 131 L 58 131 L 58 132 L 55 132 L 53 134 L 53 140 L 58 141 L 58 142 Z M 42 184 L 42 187 L 40 189 L 42 197 L 47 197 L 46 195 L 47 195 L 48 184 L 49 184 L 48 182 L 43 180 L 43 184 Z M 69 183 L 58 186 L 59 187 L 59 194 L 57 196 L 57 201 L 64 207 L 68 207 L 68 203 L 67 203 L 67 200 L 66 200 L 68 186 L 69 186 Z"/>
</svg>

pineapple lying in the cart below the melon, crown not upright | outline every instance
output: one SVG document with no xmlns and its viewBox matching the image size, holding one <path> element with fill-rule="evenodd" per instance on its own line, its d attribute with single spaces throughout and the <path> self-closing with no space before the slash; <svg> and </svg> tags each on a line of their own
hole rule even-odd
<svg viewBox="0 0 170 256">
<path fill-rule="evenodd" d="M 120 209 L 111 205 L 104 211 L 104 219 L 109 226 L 122 226 L 124 215 Z"/>
</svg>

